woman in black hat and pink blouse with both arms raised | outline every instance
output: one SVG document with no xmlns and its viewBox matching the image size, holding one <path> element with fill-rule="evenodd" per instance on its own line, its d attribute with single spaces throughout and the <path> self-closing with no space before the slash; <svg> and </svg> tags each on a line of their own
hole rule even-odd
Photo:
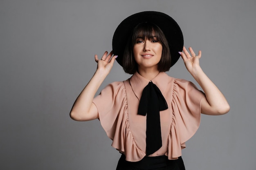
<svg viewBox="0 0 256 170">
<path fill-rule="evenodd" d="M 77 97 L 71 118 L 101 121 L 112 146 L 122 154 L 117 170 L 184 170 L 181 150 L 198 129 L 200 113 L 229 111 L 224 95 L 200 68 L 201 51 L 187 51 L 177 23 L 155 11 L 121 22 L 112 47 L 113 52 L 105 52 L 101 59 L 95 55 L 97 70 Z M 204 93 L 191 82 L 164 73 L 180 56 Z M 94 98 L 115 60 L 132 77 L 109 84 Z"/>
</svg>

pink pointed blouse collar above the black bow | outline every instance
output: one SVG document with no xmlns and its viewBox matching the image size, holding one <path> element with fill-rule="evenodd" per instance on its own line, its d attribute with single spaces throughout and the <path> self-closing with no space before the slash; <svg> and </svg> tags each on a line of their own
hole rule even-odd
<svg viewBox="0 0 256 170">
<path fill-rule="evenodd" d="M 154 77 L 151 81 L 157 85 L 162 94 L 167 88 L 168 84 L 168 75 L 164 72 L 160 72 L 156 77 Z M 138 72 L 136 72 L 132 77 L 130 77 L 130 85 L 132 86 L 132 91 L 135 93 L 136 97 L 140 100 L 142 91 L 150 80 L 142 77 Z"/>
</svg>

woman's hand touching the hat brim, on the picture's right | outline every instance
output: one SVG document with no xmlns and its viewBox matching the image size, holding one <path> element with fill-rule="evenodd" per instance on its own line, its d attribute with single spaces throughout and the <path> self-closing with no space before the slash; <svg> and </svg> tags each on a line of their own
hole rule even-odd
<svg viewBox="0 0 256 170">
<path fill-rule="evenodd" d="M 201 58 L 202 52 L 199 51 L 198 55 L 196 55 L 191 47 L 189 47 L 189 51 L 190 51 L 190 53 L 183 46 L 183 52 L 181 52 L 181 57 L 182 57 L 182 59 L 184 61 L 186 69 L 190 73 L 192 73 L 196 68 L 200 67 L 199 59 Z"/>
</svg>

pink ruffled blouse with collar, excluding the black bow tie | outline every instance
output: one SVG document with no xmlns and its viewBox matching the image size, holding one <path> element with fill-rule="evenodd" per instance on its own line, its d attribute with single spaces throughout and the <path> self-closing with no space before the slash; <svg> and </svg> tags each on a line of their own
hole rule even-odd
<svg viewBox="0 0 256 170">
<path fill-rule="evenodd" d="M 162 147 L 149 156 L 166 155 L 177 159 L 185 142 L 200 124 L 200 102 L 204 93 L 184 79 L 160 72 L 151 80 L 162 92 L 168 109 L 160 111 Z M 93 99 L 101 126 L 112 139 L 112 147 L 126 155 L 127 161 L 146 156 L 146 116 L 138 115 L 139 100 L 149 80 L 135 73 L 124 82 L 113 82 Z"/>
</svg>

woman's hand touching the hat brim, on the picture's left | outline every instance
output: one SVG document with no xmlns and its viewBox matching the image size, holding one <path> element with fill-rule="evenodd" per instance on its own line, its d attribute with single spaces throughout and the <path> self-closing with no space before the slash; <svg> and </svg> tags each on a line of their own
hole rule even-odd
<svg viewBox="0 0 256 170">
<path fill-rule="evenodd" d="M 105 51 L 101 59 L 99 60 L 98 55 L 95 54 L 95 61 L 98 63 L 97 71 L 101 71 L 103 73 L 110 73 L 111 68 L 113 67 L 113 64 L 115 62 L 115 59 L 117 58 L 117 55 L 113 56 L 113 52 L 111 51 L 108 54 L 108 51 Z"/>
</svg>

